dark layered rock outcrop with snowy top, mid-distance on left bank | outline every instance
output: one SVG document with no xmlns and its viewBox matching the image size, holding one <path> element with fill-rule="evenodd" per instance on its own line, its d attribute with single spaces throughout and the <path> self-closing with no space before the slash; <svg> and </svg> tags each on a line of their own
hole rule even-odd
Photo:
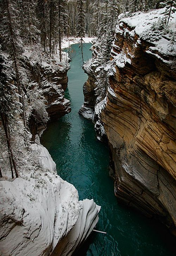
<svg viewBox="0 0 176 256">
<path fill-rule="evenodd" d="M 51 60 L 49 56 L 43 56 L 40 52 L 34 53 L 34 49 L 26 49 L 22 57 L 25 67 L 29 68 L 32 78 L 43 90 L 50 121 L 57 120 L 71 111 L 70 101 L 64 98 L 70 66 L 67 56 L 63 57 L 63 63 L 59 63 L 55 55 Z"/>
</svg>

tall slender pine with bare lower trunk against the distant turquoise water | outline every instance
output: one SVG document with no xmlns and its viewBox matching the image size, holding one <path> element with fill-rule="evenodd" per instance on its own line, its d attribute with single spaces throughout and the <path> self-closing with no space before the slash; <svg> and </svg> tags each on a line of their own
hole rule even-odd
<svg viewBox="0 0 176 256">
<path fill-rule="evenodd" d="M 84 2 L 83 0 L 77 1 L 77 7 L 78 7 L 78 25 L 77 25 L 77 36 L 80 37 L 80 47 L 81 47 L 81 56 L 82 56 L 82 62 L 84 62 L 83 59 L 83 37 L 85 36 L 85 11 L 84 11 Z"/>
</svg>

